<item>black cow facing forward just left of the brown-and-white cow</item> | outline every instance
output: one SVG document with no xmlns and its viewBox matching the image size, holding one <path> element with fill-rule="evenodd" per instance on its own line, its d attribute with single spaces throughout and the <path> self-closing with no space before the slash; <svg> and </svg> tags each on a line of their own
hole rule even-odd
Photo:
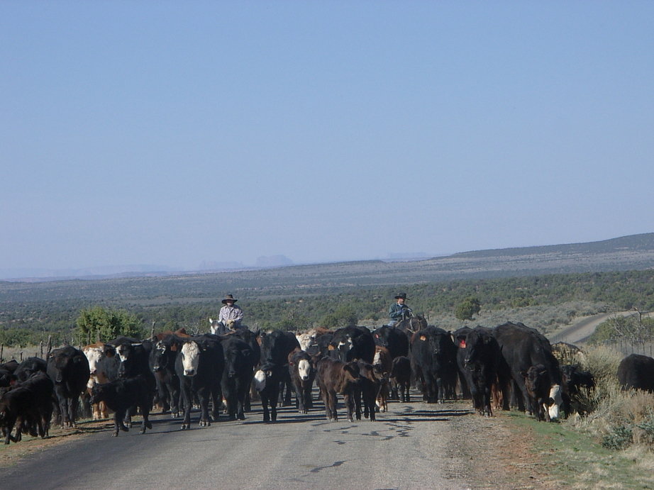
<svg viewBox="0 0 654 490">
<path fill-rule="evenodd" d="M 79 396 L 87 387 L 91 375 L 87 357 L 84 352 L 70 345 L 55 349 L 48 357 L 47 372 L 55 382 L 62 428 L 77 427 Z"/>
</svg>

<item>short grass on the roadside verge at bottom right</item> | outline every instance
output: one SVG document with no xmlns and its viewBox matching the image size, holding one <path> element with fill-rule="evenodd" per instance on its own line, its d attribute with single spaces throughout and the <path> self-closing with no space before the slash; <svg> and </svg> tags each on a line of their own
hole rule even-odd
<svg viewBox="0 0 654 490">
<path fill-rule="evenodd" d="M 514 430 L 533 435 L 532 452 L 557 488 L 654 489 L 654 455 L 642 448 L 609 450 L 565 423 L 504 412 Z"/>
</svg>

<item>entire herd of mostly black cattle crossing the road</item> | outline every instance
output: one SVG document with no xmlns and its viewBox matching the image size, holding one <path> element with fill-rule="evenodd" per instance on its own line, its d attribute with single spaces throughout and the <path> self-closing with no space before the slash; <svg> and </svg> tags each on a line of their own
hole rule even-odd
<svg viewBox="0 0 654 490">
<path fill-rule="evenodd" d="M 270 333 L 239 328 L 227 335 L 190 336 L 184 330 L 139 340 L 119 337 L 82 349 L 62 347 L 48 359 L 30 357 L 0 365 L 0 427 L 5 443 L 21 433 L 47 437 L 51 419 L 75 426 L 80 400 L 94 420 L 113 411 L 113 436 L 143 418 L 141 433 L 152 428 L 153 406 L 191 428 L 192 408 L 199 425 L 226 414 L 245 418 L 257 397 L 263 421 L 277 420 L 277 406 L 292 403 L 307 413 L 318 387 L 326 418 L 338 420 L 338 396 L 348 420 L 375 421 L 389 399 L 409 402 L 413 386 L 423 401 L 472 399 L 484 416 L 511 407 L 539 421 L 570 413 L 570 400 L 592 376 L 561 365 L 549 341 L 522 323 L 448 332 L 410 318 L 376 330 L 314 328 L 302 333 Z M 644 374 L 643 374 L 644 373 Z M 623 386 L 654 390 L 654 359 L 626 357 Z"/>
</svg>

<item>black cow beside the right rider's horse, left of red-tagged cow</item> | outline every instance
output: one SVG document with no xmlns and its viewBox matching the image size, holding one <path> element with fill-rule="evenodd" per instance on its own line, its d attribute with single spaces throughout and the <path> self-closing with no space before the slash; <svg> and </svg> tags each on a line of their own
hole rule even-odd
<svg viewBox="0 0 654 490">
<path fill-rule="evenodd" d="M 411 337 L 411 369 L 422 389 L 423 400 L 443 403 L 454 395 L 456 385 L 456 347 L 450 334 L 429 325 Z"/>
</svg>

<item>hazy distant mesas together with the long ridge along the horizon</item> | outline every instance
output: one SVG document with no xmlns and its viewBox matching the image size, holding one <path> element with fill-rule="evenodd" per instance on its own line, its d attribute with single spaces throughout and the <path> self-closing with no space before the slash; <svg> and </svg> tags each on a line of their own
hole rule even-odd
<svg viewBox="0 0 654 490">
<path fill-rule="evenodd" d="M 654 233 L 628 235 L 610 240 L 537 247 L 514 247 L 497 250 L 474 250 L 443 257 L 416 260 L 358 260 L 294 265 L 284 255 L 259 257 L 255 267 L 238 267 L 236 262 L 204 262 L 199 271 L 182 272 L 154 265 L 98 267 L 66 271 L 30 273 L 13 269 L 7 274 L 0 269 L 0 279 L 22 282 L 43 282 L 62 279 L 105 279 L 119 277 L 197 277 L 218 280 L 221 288 L 235 291 L 243 284 L 267 283 L 279 287 L 303 286 L 398 285 L 436 282 L 450 279 L 486 279 L 571 272 L 610 272 L 654 269 Z M 412 260 L 411 260 L 412 259 Z M 214 267 L 215 266 L 215 267 Z M 231 267 L 237 266 L 237 267 Z M 118 272 L 116 272 L 118 271 Z M 230 284 L 232 286 L 228 287 Z"/>
</svg>

